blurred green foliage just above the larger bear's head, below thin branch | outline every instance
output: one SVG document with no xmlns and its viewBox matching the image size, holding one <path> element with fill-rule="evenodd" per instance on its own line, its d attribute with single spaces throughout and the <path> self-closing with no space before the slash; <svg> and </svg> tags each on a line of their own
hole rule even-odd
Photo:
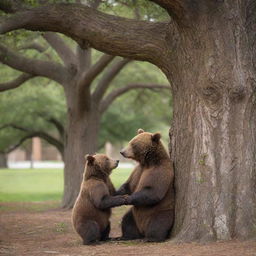
<svg viewBox="0 0 256 256">
<path fill-rule="evenodd" d="M 108 141 L 122 148 L 134 137 L 138 127 L 162 132 L 167 145 L 167 131 L 172 117 L 171 100 L 168 97 L 164 91 L 152 93 L 152 90 L 134 90 L 117 99 L 102 116 L 100 147 Z"/>
</svg>

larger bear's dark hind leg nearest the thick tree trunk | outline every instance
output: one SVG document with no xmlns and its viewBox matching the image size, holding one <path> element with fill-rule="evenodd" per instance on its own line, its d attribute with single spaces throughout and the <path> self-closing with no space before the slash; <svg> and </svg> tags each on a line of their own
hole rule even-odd
<svg viewBox="0 0 256 256">
<path fill-rule="evenodd" d="M 152 217 L 145 237 L 147 242 L 163 242 L 171 232 L 173 225 L 173 212 L 163 211 Z"/>
</svg>

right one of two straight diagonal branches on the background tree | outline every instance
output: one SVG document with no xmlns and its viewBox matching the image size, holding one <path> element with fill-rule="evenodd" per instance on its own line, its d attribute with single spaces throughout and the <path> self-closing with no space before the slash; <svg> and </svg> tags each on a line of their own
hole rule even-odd
<svg viewBox="0 0 256 256">
<path fill-rule="evenodd" d="M 92 97 L 96 102 L 99 102 L 106 90 L 108 89 L 110 83 L 112 80 L 119 74 L 119 72 L 124 68 L 125 65 L 127 65 L 131 60 L 129 59 L 122 59 L 118 62 L 116 62 L 112 67 L 110 67 L 110 70 L 106 72 L 101 80 L 99 81 Z"/>
</svg>

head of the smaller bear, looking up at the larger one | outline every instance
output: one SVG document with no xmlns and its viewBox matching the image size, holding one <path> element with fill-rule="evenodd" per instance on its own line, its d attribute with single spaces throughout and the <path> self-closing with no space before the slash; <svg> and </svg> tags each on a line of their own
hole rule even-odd
<svg viewBox="0 0 256 256">
<path fill-rule="evenodd" d="M 109 158 L 105 154 L 86 155 L 85 176 L 108 177 L 111 171 L 118 166 L 119 160 Z"/>
</svg>

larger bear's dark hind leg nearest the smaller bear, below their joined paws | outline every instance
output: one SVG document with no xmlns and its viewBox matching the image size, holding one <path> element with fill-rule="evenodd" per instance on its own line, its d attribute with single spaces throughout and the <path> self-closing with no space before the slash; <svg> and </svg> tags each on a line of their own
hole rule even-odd
<svg viewBox="0 0 256 256">
<path fill-rule="evenodd" d="M 135 223 L 132 210 L 128 211 L 122 219 L 122 240 L 139 239 L 143 236 L 140 234 L 139 229 Z"/>
</svg>

